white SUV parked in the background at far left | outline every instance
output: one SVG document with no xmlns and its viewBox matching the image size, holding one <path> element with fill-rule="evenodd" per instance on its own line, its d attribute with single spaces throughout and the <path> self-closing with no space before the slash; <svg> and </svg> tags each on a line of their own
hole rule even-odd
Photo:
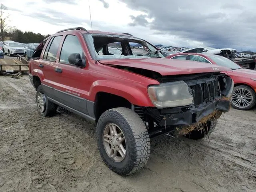
<svg viewBox="0 0 256 192">
<path fill-rule="evenodd" d="M 12 42 L 12 41 L 4 41 L 4 46 L 2 48 L 4 54 L 8 56 L 13 55 L 25 55 L 25 48 L 22 46 L 21 43 Z"/>
</svg>

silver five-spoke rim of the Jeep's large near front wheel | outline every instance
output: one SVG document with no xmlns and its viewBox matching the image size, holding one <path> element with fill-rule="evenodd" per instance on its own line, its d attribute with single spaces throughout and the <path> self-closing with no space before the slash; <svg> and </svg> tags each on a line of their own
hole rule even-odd
<svg viewBox="0 0 256 192">
<path fill-rule="evenodd" d="M 103 131 L 103 145 L 106 153 L 115 162 L 126 156 L 126 139 L 122 130 L 114 123 L 106 125 Z"/>
</svg>

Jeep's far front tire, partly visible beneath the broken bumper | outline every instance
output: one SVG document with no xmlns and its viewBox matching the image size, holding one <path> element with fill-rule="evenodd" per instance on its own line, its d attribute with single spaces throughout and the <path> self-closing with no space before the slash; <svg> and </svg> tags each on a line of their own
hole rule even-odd
<svg viewBox="0 0 256 192">
<path fill-rule="evenodd" d="M 204 124 L 204 129 L 193 130 L 189 134 L 184 135 L 184 137 L 193 139 L 193 140 L 202 139 L 210 135 L 214 131 L 216 124 L 217 124 L 217 120 L 209 120 L 206 124 Z"/>
</svg>

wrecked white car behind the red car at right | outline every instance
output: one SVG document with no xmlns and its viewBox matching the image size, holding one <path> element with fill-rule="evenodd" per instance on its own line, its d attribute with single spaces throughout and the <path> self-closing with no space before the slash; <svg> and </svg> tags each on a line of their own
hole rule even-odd
<svg viewBox="0 0 256 192">
<path fill-rule="evenodd" d="M 236 57 L 236 49 L 232 48 L 221 48 L 216 49 L 212 47 L 196 47 L 196 48 L 189 48 L 183 51 L 180 51 L 179 53 L 208 53 L 208 54 L 217 54 L 221 55 L 227 58 L 235 58 Z"/>
</svg>

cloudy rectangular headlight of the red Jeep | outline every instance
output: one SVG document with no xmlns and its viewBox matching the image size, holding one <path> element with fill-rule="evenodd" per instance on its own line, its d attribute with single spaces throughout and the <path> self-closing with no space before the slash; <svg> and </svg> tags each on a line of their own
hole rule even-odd
<svg viewBox="0 0 256 192">
<path fill-rule="evenodd" d="M 149 86 L 148 96 L 154 106 L 159 108 L 187 106 L 193 103 L 193 96 L 184 81 Z"/>
</svg>

